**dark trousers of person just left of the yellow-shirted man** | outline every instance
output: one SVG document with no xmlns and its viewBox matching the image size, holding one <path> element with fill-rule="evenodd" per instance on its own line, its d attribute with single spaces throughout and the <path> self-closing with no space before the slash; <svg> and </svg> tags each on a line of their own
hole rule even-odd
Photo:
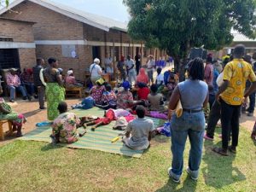
<svg viewBox="0 0 256 192">
<path fill-rule="evenodd" d="M 217 101 L 213 102 L 208 118 L 207 137 L 214 137 L 215 127 L 220 119 L 220 110 L 220 104 Z"/>
</svg>

